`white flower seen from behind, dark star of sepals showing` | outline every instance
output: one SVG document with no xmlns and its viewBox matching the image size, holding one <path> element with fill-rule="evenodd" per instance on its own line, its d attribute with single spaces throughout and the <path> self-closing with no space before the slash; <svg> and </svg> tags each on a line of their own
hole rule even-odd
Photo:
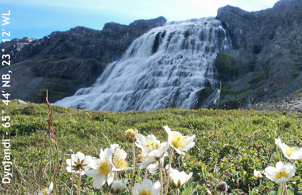
<svg viewBox="0 0 302 195">
<path fill-rule="evenodd" d="M 81 175 L 85 175 L 86 170 L 90 168 L 90 161 L 94 159 L 91 156 L 85 156 L 82 152 L 78 152 L 77 154 L 71 154 L 71 159 L 66 159 L 66 163 L 68 167 L 66 167 L 66 170 L 71 173 L 80 172 L 81 168 Z"/>
</svg>

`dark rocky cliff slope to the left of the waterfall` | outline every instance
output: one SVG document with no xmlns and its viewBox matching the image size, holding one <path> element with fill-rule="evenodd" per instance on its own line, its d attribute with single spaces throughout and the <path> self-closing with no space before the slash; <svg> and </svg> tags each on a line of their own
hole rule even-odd
<svg viewBox="0 0 302 195">
<path fill-rule="evenodd" d="M 133 40 L 166 21 L 164 17 L 136 20 L 129 26 L 111 22 L 101 31 L 75 27 L 42 39 L 25 37 L 1 43 L 13 63 L 0 70 L 0 74 L 14 73 L 6 92 L 11 99 L 34 102 L 45 102 L 46 89 L 50 102 L 73 95 L 92 85 L 108 63 L 120 60 Z"/>
</svg>

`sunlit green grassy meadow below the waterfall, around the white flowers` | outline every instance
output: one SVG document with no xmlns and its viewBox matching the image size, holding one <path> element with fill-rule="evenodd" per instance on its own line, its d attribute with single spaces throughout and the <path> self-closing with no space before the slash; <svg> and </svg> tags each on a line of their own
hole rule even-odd
<svg viewBox="0 0 302 195">
<path fill-rule="evenodd" d="M 50 106 L 53 109 L 52 128 L 59 148 L 62 194 L 70 194 L 71 174 L 65 170 L 66 159 L 70 158 L 68 149 L 74 153 L 81 151 L 85 155 L 97 156 L 101 148 L 117 143 L 128 153 L 130 164 L 131 146 L 124 141 L 124 132 L 128 128 L 137 128 L 144 136 L 154 134 L 161 142 L 167 140 L 163 128 L 166 124 L 172 131 L 187 136 L 196 135 L 195 147 L 185 156 L 176 154 L 173 162 L 174 166 L 181 167 L 187 173 L 193 172 L 190 183 L 180 189 L 180 194 L 190 188 L 194 194 L 218 194 L 216 185 L 221 181 L 229 185 L 229 194 L 274 194 L 273 190 L 277 191 L 279 185 L 265 176 L 260 184 L 253 170 L 264 170 L 284 160 L 274 138 L 281 138 L 289 146 L 302 147 L 301 113 L 178 108 L 109 112 Z M 9 128 L 0 127 L 0 135 L 2 140 L 10 139 L 13 164 L 11 182 L 1 183 L 0 194 L 38 194 L 54 179 L 46 125 L 47 105 L 21 105 L 12 101 L 9 106 L 1 105 L 2 109 L 11 118 Z M 54 147 L 52 150 L 55 153 Z M 136 152 L 138 154 L 137 148 Z M 5 158 L 4 152 L 0 153 L 0 158 Z M 54 161 L 57 166 L 56 158 Z M 302 163 L 301 160 L 295 163 L 295 176 L 287 185 L 293 194 L 299 194 Z M 123 175 L 130 178 L 130 172 Z M 77 175 L 73 176 L 75 183 L 78 183 Z M 3 168 L 1 177 L 4 177 Z M 95 189 L 92 180 L 86 175 L 82 177 L 82 194 L 108 194 L 107 184 L 103 189 Z M 75 189 L 74 193 L 77 192 Z M 130 193 L 126 191 L 124 194 Z"/>
</svg>

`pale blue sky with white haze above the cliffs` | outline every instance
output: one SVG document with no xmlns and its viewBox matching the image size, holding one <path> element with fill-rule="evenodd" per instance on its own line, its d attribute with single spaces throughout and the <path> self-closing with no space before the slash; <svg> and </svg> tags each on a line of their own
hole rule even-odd
<svg viewBox="0 0 302 195">
<path fill-rule="evenodd" d="M 102 30 L 107 22 L 129 25 L 134 20 L 164 16 L 168 21 L 216 16 L 225 5 L 246 11 L 272 8 L 277 0 L 1 0 L 0 13 L 11 11 L 2 26 L 10 37 L 42 38 L 76 26 Z M 3 23 L 3 22 L 2 22 Z"/>
</svg>

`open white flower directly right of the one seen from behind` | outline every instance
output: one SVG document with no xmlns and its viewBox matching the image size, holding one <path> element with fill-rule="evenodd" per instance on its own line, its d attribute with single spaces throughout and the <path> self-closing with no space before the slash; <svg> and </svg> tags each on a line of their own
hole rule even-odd
<svg viewBox="0 0 302 195">
<path fill-rule="evenodd" d="M 114 173 L 112 172 L 112 151 L 110 149 L 101 149 L 100 159 L 93 159 L 90 163 L 91 170 L 86 171 L 86 175 L 90 177 L 95 177 L 93 181 L 93 186 L 100 189 L 107 181 L 110 185 L 114 179 Z"/>
</svg>

